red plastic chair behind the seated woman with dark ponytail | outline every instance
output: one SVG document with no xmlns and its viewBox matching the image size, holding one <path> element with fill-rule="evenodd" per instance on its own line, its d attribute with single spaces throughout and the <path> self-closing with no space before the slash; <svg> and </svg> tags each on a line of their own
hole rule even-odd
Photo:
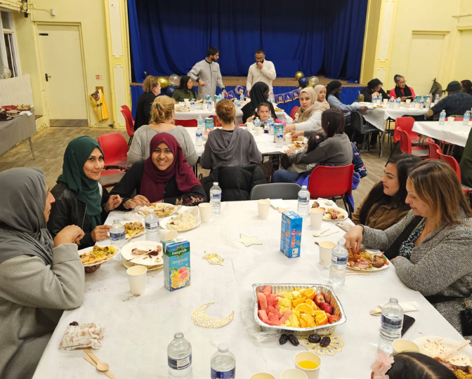
<svg viewBox="0 0 472 379">
<path fill-rule="evenodd" d="M 354 165 L 316 166 L 308 180 L 308 191 L 311 199 L 343 200 L 344 208 L 351 217 L 348 196 L 353 192 Z"/>
</svg>

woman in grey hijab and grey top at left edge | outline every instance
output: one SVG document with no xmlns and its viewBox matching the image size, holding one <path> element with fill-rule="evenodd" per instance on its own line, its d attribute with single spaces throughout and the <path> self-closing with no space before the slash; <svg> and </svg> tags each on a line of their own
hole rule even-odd
<svg viewBox="0 0 472 379">
<path fill-rule="evenodd" d="M 39 168 L 0 173 L 0 379 L 32 378 L 63 310 L 84 301 L 84 266 L 65 227 L 46 229 L 53 195 Z"/>
</svg>

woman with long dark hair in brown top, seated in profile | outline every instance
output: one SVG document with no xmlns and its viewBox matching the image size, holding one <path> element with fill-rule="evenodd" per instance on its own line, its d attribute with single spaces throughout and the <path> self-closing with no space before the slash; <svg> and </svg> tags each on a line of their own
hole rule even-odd
<svg viewBox="0 0 472 379">
<path fill-rule="evenodd" d="M 412 167 L 421 159 L 410 154 L 395 155 L 384 169 L 384 176 L 370 190 L 353 213 L 355 225 L 386 230 L 407 215 L 407 178 Z"/>
</svg>

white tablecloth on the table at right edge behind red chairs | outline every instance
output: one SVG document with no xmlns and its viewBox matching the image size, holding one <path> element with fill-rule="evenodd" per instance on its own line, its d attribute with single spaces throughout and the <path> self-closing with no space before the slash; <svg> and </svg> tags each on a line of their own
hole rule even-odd
<svg viewBox="0 0 472 379">
<path fill-rule="evenodd" d="M 413 131 L 465 147 L 471 126 L 472 124 L 462 125 L 462 121 L 454 121 L 452 125 L 447 124 L 447 121 L 445 125 L 440 125 L 439 121 L 417 121 L 413 125 Z"/>
</svg>

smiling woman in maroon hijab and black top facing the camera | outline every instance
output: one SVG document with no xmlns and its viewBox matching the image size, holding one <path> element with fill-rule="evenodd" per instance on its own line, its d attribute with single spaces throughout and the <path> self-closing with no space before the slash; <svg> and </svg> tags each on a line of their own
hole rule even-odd
<svg viewBox="0 0 472 379">
<path fill-rule="evenodd" d="M 121 210 L 149 206 L 150 203 L 195 206 L 206 201 L 202 184 L 173 135 L 155 135 L 150 143 L 150 152 L 150 157 L 133 164 L 112 190 L 112 194 L 123 198 Z M 135 193 L 136 196 L 132 197 Z"/>
</svg>

